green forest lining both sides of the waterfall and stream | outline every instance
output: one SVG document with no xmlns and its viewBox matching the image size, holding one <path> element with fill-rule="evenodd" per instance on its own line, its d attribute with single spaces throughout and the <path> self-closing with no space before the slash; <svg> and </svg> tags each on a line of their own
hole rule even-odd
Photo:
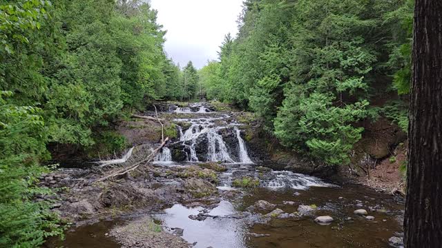
<svg viewBox="0 0 442 248">
<path fill-rule="evenodd" d="M 412 0 L 245 0 L 238 34 L 198 69 L 166 53 L 148 1 L 0 0 L 0 247 L 64 235 L 57 192 L 39 184 L 53 147 L 121 152 L 112 126 L 152 103 L 253 112 L 329 167 L 351 163 L 363 121 L 407 133 L 413 17 Z"/>
</svg>

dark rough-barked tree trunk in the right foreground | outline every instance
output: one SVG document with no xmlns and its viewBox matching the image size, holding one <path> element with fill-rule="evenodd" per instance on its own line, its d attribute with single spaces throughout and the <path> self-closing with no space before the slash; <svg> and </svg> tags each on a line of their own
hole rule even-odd
<svg viewBox="0 0 442 248">
<path fill-rule="evenodd" d="M 405 247 L 442 247 L 442 1 L 416 0 Z"/>
</svg>

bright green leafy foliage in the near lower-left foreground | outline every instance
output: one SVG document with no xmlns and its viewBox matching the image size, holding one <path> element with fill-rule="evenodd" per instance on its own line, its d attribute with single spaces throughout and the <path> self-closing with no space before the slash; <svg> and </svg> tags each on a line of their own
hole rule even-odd
<svg viewBox="0 0 442 248">
<path fill-rule="evenodd" d="M 44 121 L 37 107 L 6 101 L 12 92 L 0 92 L 0 247 L 39 247 L 48 236 L 62 234 L 50 201 L 36 196 L 52 192 L 37 186 L 48 168 Z"/>
</svg>

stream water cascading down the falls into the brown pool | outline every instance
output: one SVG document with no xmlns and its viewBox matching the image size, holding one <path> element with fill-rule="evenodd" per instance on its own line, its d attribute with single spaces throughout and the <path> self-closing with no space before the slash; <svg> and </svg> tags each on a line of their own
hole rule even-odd
<svg viewBox="0 0 442 248">
<path fill-rule="evenodd" d="M 249 156 L 242 124 L 229 113 L 213 112 L 204 103 L 161 113 L 162 117 L 168 115 L 178 124 L 180 137 L 162 149 L 155 166 L 170 169 L 213 161 L 227 168 L 218 173 L 215 204 L 174 203 L 150 213 L 164 231 L 182 229 L 177 236 L 193 247 L 386 248 L 390 237 L 401 236 L 401 199 L 361 185 L 336 185 L 255 161 Z M 259 178 L 259 186 L 234 187 L 233 181 L 244 177 Z M 356 209 L 365 209 L 367 214 L 354 214 Z M 121 247 L 108 235 L 110 230 L 142 216 L 133 214 L 77 227 L 66 232 L 63 242 L 48 246 Z M 315 221 L 318 216 L 331 216 L 333 221 L 319 225 Z"/>
</svg>

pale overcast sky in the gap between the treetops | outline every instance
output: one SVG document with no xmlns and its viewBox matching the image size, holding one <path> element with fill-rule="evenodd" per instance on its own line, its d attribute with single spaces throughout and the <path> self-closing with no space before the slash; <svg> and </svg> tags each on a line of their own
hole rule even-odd
<svg viewBox="0 0 442 248">
<path fill-rule="evenodd" d="M 217 59 L 224 35 L 236 37 L 242 0 L 151 0 L 157 22 L 167 30 L 164 47 L 175 63 L 202 68 Z"/>
</svg>

